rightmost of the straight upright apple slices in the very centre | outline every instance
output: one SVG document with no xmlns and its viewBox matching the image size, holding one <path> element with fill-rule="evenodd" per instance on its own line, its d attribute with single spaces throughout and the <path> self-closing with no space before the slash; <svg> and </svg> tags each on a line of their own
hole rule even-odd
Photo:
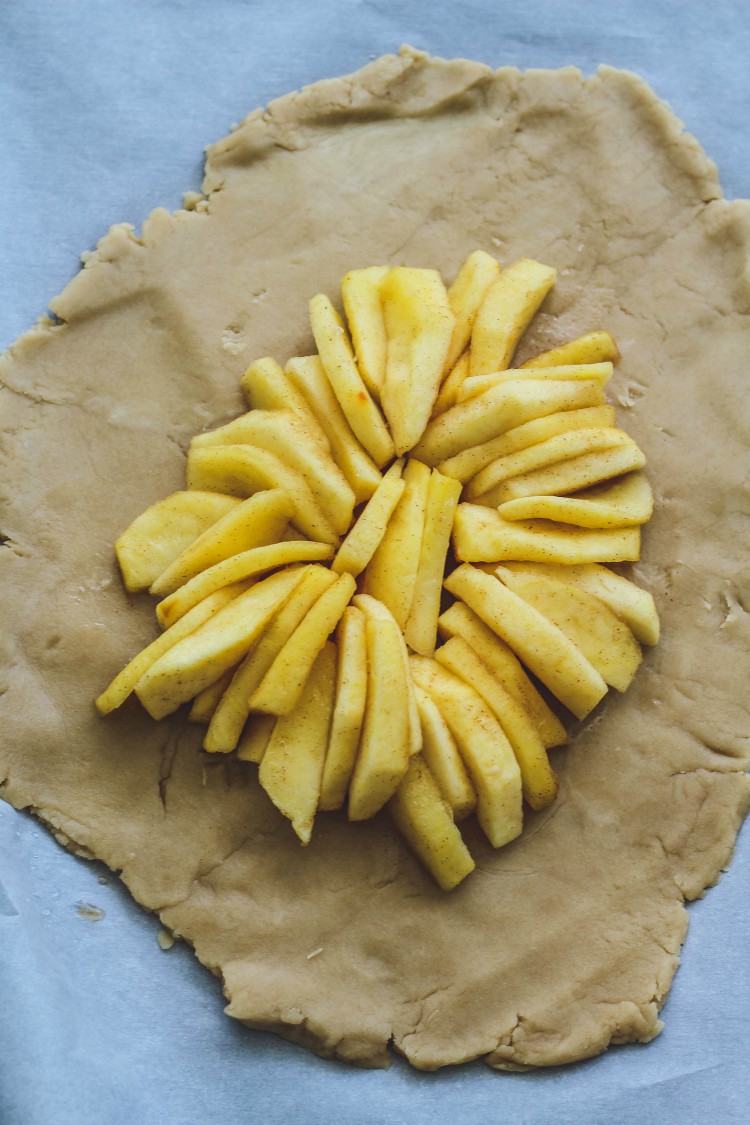
<svg viewBox="0 0 750 1125">
<path fill-rule="evenodd" d="M 460 495 L 460 482 L 433 469 L 427 488 L 414 597 L 404 628 L 407 645 L 421 656 L 432 656 L 435 650 L 445 558 Z"/>
</svg>

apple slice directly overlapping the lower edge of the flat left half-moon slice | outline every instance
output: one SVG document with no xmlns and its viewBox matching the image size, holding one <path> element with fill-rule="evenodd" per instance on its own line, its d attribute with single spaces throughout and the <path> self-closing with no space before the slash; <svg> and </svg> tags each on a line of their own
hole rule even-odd
<svg viewBox="0 0 750 1125">
<path fill-rule="evenodd" d="M 154 579 L 150 592 L 164 597 L 240 551 L 275 543 L 293 513 L 293 504 L 281 488 L 264 489 L 237 501 Z"/>
</svg>

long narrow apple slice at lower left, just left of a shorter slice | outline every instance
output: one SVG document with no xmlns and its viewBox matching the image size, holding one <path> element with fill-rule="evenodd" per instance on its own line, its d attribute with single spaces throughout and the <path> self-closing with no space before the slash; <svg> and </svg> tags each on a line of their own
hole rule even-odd
<svg viewBox="0 0 750 1125">
<path fill-rule="evenodd" d="M 237 746 L 253 693 L 293 631 L 335 580 L 325 567 L 302 568 L 301 577 L 286 603 L 236 668 L 222 695 L 206 731 L 205 750 L 228 754 Z"/>
</svg>

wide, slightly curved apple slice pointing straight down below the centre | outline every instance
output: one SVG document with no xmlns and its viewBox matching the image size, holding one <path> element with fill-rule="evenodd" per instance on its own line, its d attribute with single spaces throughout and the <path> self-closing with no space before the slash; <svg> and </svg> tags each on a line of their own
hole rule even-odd
<svg viewBox="0 0 750 1125">
<path fill-rule="evenodd" d="M 390 800 L 410 757 L 409 705 L 401 634 L 391 620 L 367 618 L 368 685 L 359 753 L 349 786 L 350 820 L 374 817 Z"/>
</svg>

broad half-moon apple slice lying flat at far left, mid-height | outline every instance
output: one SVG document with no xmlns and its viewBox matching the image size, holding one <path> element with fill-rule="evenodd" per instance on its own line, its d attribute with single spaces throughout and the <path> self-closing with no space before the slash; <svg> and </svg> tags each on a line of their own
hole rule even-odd
<svg viewBox="0 0 750 1125">
<path fill-rule="evenodd" d="M 174 559 L 240 501 L 215 492 L 177 492 L 137 515 L 115 542 L 128 593 L 147 590 Z"/>
</svg>

